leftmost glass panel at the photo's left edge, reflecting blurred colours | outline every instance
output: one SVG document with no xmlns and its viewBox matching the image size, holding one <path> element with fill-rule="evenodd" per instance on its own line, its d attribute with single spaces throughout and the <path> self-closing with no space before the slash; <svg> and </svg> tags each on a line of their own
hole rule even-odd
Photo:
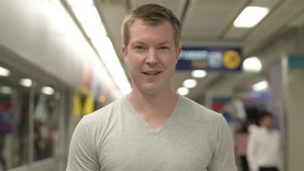
<svg viewBox="0 0 304 171">
<path fill-rule="evenodd" d="M 0 76 L 0 170 L 28 161 L 29 89 Z"/>
</svg>

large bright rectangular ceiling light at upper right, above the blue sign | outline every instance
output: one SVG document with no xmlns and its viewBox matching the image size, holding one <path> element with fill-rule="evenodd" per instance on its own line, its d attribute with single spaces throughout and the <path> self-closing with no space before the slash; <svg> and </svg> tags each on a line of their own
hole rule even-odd
<svg viewBox="0 0 304 171">
<path fill-rule="evenodd" d="M 262 20 L 268 12 L 269 8 L 267 7 L 247 6 L 234 20 L 233 25 L 235 27 L 253 27 Z"/>
</svg>

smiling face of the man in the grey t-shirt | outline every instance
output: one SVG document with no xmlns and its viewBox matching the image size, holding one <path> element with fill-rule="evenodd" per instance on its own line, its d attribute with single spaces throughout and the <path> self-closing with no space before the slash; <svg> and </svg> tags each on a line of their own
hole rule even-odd
<svg viewBox="0 0 304 171">
<path fill-rule="evenodd" d="M 136 20 L 129 29 L 124 60 L 132 77 L 133 89 L 156 94 L 171 88 L 180 48 L 176 49 L 173 29 L 168 21 L 151 25 Z"/>
</svg>

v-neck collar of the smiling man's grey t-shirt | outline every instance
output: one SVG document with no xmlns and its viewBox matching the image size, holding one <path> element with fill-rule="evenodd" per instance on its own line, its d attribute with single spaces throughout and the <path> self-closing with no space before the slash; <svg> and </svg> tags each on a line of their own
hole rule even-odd
<svg viewBox="0 0 304 171">
<path fill-rule="evenodd" d="M 151 127 L 142 117 L 140 117 L 140 115 L 136 112 L 135 108 L 132 106 L 132 104 L 127 99 L 127 95 L 125 95 L 122 98 L 122 101 L 123 101 L 123 104 L 125 105 L 125 107 L 128 109 L 128 113 L 130 113 L 135 119 L 137 119 L 138 122 L 139 122 L 139 124 L 141 124 L 142 126 L 144 126 L 144 128 L 149 133 L 157 135 L 162 130 L 164 130 L 178 116 L 178 110 L 179 110 L 179 108 L 180 108 L 180 106 L 182 104 L 182 97 L 181 97 L 180 94 L 178 94 L 176 104 L 175 104 L 175 106 L 174 106 L 171 114 L 169 115 L 169 117 L 157 129 L 154 129 L 153 127 Z"/>
</svg>

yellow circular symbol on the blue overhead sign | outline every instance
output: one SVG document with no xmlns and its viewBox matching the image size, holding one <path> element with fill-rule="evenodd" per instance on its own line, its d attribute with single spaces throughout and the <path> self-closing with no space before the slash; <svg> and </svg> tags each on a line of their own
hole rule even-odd
<svg viewBox="0 0 304 171">
<path fill-rule="evenodd" d="M 227 50 L 223 55 L 222 61 L 227 69 L 235 69 L 240 64 L 240 55 L 235 50 Z"/>
</svg>

